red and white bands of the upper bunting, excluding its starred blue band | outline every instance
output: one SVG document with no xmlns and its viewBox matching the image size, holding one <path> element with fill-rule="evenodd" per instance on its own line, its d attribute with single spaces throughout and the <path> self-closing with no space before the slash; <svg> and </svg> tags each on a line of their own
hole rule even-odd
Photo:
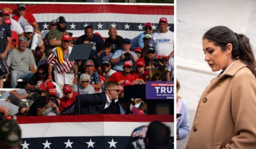
<svg viewBox="0 0 256 149">
<path fill-rule="evenodd" d="M 13 2 L 14 3 L 14 2 Z M 168 23 L 174 23 L 173 4 L 114 4 L 114 3 L 43 3 L 25 2 L 26 10 L 31 12 L 37 22 L 50 22 L 59 16 L 64 16 L 67 22 L 131 22 L 131 23 L 158 23 L 161 17 L 165 17 Z M 41 5 L 28 5 L 29 3 Z M 16 5 L 0 4 L 0 8 L 9 7 L 16 10 Z M 17 12 L 17 11 L 16 11 Z M 109 26 L 111 27 L 111 26 Z M 43 32 L 46 30 L 42 30 Z M 68 30 L 73 37 L 84 34 L 83 30 Z M 94 28 L 94 32 L 103 37 L 109 37 L 108 30 Z M 143 31 L 117 30 L 118 35 L 134 38 Z"/>
</svg>

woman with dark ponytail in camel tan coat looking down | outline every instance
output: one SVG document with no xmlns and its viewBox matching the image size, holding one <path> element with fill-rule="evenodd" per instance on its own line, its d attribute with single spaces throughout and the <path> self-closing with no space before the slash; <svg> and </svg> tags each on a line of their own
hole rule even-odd
<svg viewBox="0 0 256 149">
<path fill-rule="evenodd" d="M 186 149 L 256 149 L 256 63 L 249 39 L 225 26 L 202 40 L 212 79 L 199 100 Z"/>
</svg>

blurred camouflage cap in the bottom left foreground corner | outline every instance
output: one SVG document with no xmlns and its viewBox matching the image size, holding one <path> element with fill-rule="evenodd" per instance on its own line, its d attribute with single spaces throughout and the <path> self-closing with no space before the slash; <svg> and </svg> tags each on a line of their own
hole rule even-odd
<svg viewBox="0 0 256 149">
<path fill-rule="evenodd" d="M 0 141 L 5 147 L 16 147 L 22 143 L 21 129 L 13 120 L 0 123 Z"/>
</svg>

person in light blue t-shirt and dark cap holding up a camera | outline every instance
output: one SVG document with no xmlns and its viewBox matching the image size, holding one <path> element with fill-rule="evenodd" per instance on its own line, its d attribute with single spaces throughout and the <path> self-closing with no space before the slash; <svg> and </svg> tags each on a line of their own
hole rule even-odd
<svg viewBox="0 0 256 149">
<path fill-rule="evenodd" d="M 110 62 L 114 65 L 113 69 L 115 71 L 123 72 L 123 63 L 125 61 L 131 61 L 135 63 L 138 59 L 136 53 L 134 51 L 130 51 L 131 48 L 131 40 L 125 38 L 122 42 L 122 50 L 117 50 L 114 52 Z M 134 67 L 131 68 L 131 72 L 133 71 Z"/>
</svg>

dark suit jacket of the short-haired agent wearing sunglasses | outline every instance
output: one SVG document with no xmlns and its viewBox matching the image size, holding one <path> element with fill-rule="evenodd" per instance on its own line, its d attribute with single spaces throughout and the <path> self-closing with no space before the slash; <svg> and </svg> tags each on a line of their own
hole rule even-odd
<svg viewBox="0 0 256 149">
<path fill-rule="evenodd" d="M 99 114 L 103 111 L 107 102 L 105 92 L 80 95 L 80 114 Z M 79 114 L 79 100 L 76 96 L 75 114 Z"/>
</svg>

